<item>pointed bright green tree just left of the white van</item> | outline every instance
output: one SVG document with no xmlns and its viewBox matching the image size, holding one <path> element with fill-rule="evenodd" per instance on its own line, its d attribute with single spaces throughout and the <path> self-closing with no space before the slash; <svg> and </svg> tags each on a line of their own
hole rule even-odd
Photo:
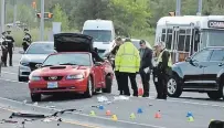
<svg viewBox="0 0 224 128">
<path fill-rule="evenodd" d="M 62 30 L 68 30 L 68 18 L 66 13 L 62 10 L 61 6 L 57 3 L 53 9 L 53 21 L 54 22 L 62 22 Z"/>
</svg>

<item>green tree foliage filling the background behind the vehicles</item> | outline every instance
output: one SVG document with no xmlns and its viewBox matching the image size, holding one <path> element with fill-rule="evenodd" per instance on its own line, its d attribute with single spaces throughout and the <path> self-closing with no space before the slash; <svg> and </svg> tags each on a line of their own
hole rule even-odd
<svg viewBox="0 0 224 128">
<path fill-rule="evenodd" d="M 14 0 L 7 1 L 7 23 L 13 22 Z M 32 36 L 39 39 L 40 19 L 31 7 L 33 0 L 17 0 L 17 21 L 26 23 L 32 29 Z M 161 17 L 175 11 L 177 0 L 45 0 L 45 11 L 53 12 L 51 20 L 45 20 L 45 28 L 52 26 L 52 21 L 62 22 L 62 30 L 81 31 L 86 20 L 113 20 L 116 33 L 124 36 L 146 39 L 153 42 L 154 28 Z M 36 0 L 41 10 L 41 0 Z M 1 8 L 1 6 L 0 6 Z M 195 15 L 198 0 L 182 0 L 181 14 Z M 224 0 L 203 0 L 203 15 L 224 15 Z M 18 34 L 15 34 L 18 33 Z M 21 32 L 14 32 L 22 36 Z M 33 35 L 35 34 L 35 35 Z M 18 38 L 17 38 L 18 39 Z M 19 41 L 21 38 L 18 39 Z"/>
</svg>

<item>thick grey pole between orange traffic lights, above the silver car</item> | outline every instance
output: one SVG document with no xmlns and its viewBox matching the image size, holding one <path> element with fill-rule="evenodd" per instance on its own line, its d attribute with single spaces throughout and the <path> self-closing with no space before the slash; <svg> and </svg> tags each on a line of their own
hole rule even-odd
<svg viewBox="0 0 224 128">
<path fill-rule="evenodd" d="M 40 23 L 41 41 L 44 40 L 44 0 L 41 0 L 41 23 Z"/>
</svg>

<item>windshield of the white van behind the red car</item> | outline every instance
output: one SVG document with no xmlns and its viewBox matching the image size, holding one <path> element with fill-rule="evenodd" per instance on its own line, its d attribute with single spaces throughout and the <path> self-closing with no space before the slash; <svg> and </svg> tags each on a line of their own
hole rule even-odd
<svg viewBox="0 0 224 128">
<path fill-rule="evenodd" d="M 94 42 L 110 42 L 111 31 L 109 30 L 84 30 L 83 34 L 94 38 Z"/>
</svg>

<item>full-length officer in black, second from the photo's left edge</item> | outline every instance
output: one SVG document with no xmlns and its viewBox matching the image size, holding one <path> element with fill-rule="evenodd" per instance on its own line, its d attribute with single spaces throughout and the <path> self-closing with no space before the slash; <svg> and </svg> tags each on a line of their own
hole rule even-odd
<svg viewBox="0 0 224 128">
<path fill-rule="evenodd" d="M 11 31 L 7 31 L 8 53 L 9 53 L 9 65 L 12 66 L 12 53 L 14 50 L 14 39 L 10 35 Z"/>
</svg>

